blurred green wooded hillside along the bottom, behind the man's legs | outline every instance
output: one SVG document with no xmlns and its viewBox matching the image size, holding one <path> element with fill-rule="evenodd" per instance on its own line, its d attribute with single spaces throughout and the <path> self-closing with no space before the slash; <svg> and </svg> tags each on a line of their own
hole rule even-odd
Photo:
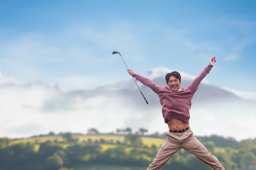
<svg viewBox="0 0 256 170">
<path fill-rule="evenodd" d="M 92 129 L 88 133 L 95 133 Z M 121 131 L 116 130 L 120 133 Z M 100 134 L 99 131 L 98 133 Z M 48 136 L 56 134 L 50 132 Z M 60 135 L 60 134 L 58 134 Z M 12 139 L 0 139 L 0 170 L 71 170 L 78 165 L 118 164 L 120 166 L 147 167 L 152 162 L 159 147 L 156 144 L 143 144 L 144 133 L 126 131 L 123 141 L 79 140 L 73 133 L 61 133 L 63 141 L 47 141 L 11 144 Z M 155 134 L 147 135 L 154 136 Z M 46 135 L 45 135 L 46 136 Z M 166 138 L 162 134 L 158 137 Z M 161 137 L 162 136 L 162 137 Z M 253 170 L 256 167 L 256 140 L 247 139 L 237 142 L 221 136 L 199 136 L 198 139 L 214 154 L 226 170 Z M 103 145 L 115 144 L 116 147 L 104 149 Z M 217 148 L 221 147 L 221 151 Z M 39 147 L 36 150 L 36 147 Z M 179 150 L 164 166 L 166 169 L 208 170 L 198 158 Z M 164 169 L 163 169 L 164 170 Z"/>
</svg>

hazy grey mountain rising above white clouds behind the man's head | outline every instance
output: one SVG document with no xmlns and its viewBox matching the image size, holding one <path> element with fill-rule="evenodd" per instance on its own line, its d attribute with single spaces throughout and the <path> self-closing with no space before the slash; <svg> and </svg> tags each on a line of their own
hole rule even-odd
<svg viewBox="0 0 256 170">
<path fill-rule="evenodd" d="M 166 73 L 171 72 L 166 68 L 154 68 L 148 72 L 146 75 L 142 75 L 146 78 L 151 79 L 154 83 L 160 86 L 168 87 L 165 81 Z M 181 74 L 181 86 L 180 88 L 187 88 L 195 78 L 195 76 L 191 76 L 189 74 L 180 72 Z M 134 78 L 135 79 L 135 78 Z M 139 81 L 137 81 L 141 91 L 143 92 L 145 98 L 149 102 L 147 108 L 155 108 L 160 106 L 159 98 L 157 94 L 155 94 L 150 88 L 143 85 Z M 77 95 L 82 96 L 84 99 L 90 99 L 96 96 L 104 96 L 107 98 L 121 98 L 123 101 L 123 105 L 125 103 L 129 105 L 136 105 L 138 107 L 145 106 L 145 101 L 143 96 L 141 95 L 137 85 L 134 80 L 131 78 L 128 81 L 117 82 L 110 85 L 105 85 L 99 88 L 96 88 L 92 91 L 70 91 L 66 94 L 69 97 L 75 97 Z M 203 80 L 199 85 L 198 91 L 193 96 L 192 102 L 195 105 L 200 105 L 201 102 L 210 102 L 210 101 L 236 101 L 242 102 L 246 101 L 230 91 L 227 91 L 223 88 L 214 86 L 209 84 L 209 82 Z"/>
</svg>

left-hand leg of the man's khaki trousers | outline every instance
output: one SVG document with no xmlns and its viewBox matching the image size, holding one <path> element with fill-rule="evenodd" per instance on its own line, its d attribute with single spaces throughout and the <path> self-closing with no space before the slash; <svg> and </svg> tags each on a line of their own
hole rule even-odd
<svg viewBox="0 0 256 170">
<path fill-rule="evenodd" d="M 180 144 L 177 136 L 173 133 L 168 133 L 166 140 L 157 152 L 153 162 L 148 166 L 147 170 L 161 170 L 166 162 L 180 150 Z"/>
</svg>

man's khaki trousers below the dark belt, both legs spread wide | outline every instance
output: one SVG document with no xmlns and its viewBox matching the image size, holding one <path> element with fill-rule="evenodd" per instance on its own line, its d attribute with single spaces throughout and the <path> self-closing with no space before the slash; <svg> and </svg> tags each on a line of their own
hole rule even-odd
<svg viewBox="0 0 256 170">
<path fill-rule="evenodd" d="M 182 133 L 169 132 L 165 142 L 163 142 L 147 170 L 160 170 L 181 148 L 198 157 L 198 159 L 203 161 L 211 170 L 225 170 L 218 159 L 194 136 L 191 129 Z"/>
</svg>

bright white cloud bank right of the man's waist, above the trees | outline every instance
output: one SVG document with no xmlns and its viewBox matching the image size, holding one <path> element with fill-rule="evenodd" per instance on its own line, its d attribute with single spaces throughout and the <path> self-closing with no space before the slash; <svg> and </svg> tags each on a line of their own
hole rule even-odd
<svg viewBox="0 0 256 170">
<path fill-rule="evenodd" d="M 253 122 L 256 122 L 256 117 L 253 116 L 256 106 L 247 108 L 236 105 L 231 108 L 231 105 L 227 103 L 217 104 L 214 102 L 212 104 L 211 109 L 192 109 L 190 124 L 195 135 L 217 134 L 224 137 L 234 137 L 237 140 L 256 138 L 254 133 L 246 132 L 248 129 L 253 129 Z M 208 107 L 210 108 L 211 105 Z M 222 109 L 216 110 L 218 107 L 222 107 Z"/>
</svg>

